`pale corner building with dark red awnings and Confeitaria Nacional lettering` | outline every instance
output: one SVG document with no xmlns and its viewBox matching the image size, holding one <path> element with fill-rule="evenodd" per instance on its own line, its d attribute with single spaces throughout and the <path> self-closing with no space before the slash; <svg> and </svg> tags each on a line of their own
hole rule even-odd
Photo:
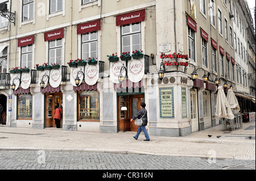
<svg viewBox="0 0 256 181">
<path fill-rule="evenodd" d="M 0 19 L 0 98 L 7 127 L 55 127 L 54 110 L 62 106 L 63 130 L 135 132 L 130 119 L 145 102 L 151 135 L 187 136 L 220 124 L 214 79 L 250 93 L 253 74 L 245 54 L 255 62 L 255 48 L 248 49 L 255 34 L 247 33 L 246 23 L 238 29 L 233 6 L 241 22 L 246 17 L 235 1 L 1 0 L 0 5 L 2 12 L 15 13 L 14 20 Z M 126 52 L 143 55 L 122 60 Z M 194 70 L 198 77 L 192 81 Z"/>
</svg>

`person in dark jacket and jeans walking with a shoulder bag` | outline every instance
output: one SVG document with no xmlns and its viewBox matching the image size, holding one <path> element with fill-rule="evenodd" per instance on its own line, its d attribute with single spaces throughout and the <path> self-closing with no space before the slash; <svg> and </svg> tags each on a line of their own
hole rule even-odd
<svg viewBox="0 0 256 181">
<path fill-rule="evenodd" d="M 150 141 L 150 137 L 148 136 L 147 129 L 146 129 L 146 125 L 147 125 L 147 110 L 145 109 L 145 107 L 146 107 L 146 104 L 145 103 L 141 103 L 141 110 L 139 110 L 138 113 L 135 116 L 133 116 L 133 118 L 131 119 L 131 121 L 134 121 L 137 118 L 139 118 L 139 119 L 142 118 L 142 121 L 143 121 L 142 125 L 139 126 L 139 128 L 138 128 L 137 134 L 134 136 L 135 140 L 138 139 L 139 134 L 141 133 L 141 131 L 143 131 L 144 135 L 146 137 L 146 140 L 144 140 L 144 141 Z"/>
</svg>

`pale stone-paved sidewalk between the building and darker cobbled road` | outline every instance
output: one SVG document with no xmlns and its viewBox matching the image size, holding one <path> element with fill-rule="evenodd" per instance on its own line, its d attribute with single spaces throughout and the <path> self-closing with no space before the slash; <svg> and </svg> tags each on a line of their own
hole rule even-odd
<svg viewBox="0 0 256 181">
<path fill-rule="evenodd" d="M 95 133 L 1 125 L 0 150 L 72 150 L 255 160 L 255 123 L 243 123 L 243 128 L 235 131 L 222 131 L 222 126 L 218 125 L 185 137 L 150 136 L 150 141 L 143 141 L 143 133 L 138 140 L 133 138 L 134 135 L 134 132 Z"/>
</svg>

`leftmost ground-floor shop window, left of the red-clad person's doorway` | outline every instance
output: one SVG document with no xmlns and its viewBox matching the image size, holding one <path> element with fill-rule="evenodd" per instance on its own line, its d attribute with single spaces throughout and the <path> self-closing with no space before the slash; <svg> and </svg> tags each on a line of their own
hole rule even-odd
<svg viewBox="0 0 256 181">
<path fill-rule="evenodd" d="M 18 119 L 32 119 L 32 95 L 18 95 Z"/>
</svg>

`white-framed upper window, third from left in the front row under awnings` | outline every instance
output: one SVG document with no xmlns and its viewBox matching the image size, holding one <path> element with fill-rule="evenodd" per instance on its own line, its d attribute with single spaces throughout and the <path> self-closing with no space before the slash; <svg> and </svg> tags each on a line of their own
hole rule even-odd
<svg viewBox="0 0 256 181">
<path fill-rule="evenodd" d="M 97 58 L 98 47 L 98 32 L 89 32 L 82 34 L 82 60 L 88 60 L 88 58 Z"/>
</svg>

